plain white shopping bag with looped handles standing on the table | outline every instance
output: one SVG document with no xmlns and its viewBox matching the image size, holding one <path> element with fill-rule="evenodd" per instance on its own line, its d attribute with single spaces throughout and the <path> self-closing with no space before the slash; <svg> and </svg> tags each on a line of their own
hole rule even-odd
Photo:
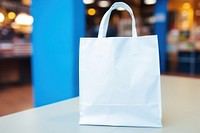
<svg viewBox="0 0 200 133">
<path fill-rule="evenodd" d="M 132 17 L 132 37 L 105 37 L 112 10 Z M 98 38 L 80 39 L 80 124 L 162 127 L 157 36 L 137 36 L 131 8 L 114 3 Z"/>
</svg>

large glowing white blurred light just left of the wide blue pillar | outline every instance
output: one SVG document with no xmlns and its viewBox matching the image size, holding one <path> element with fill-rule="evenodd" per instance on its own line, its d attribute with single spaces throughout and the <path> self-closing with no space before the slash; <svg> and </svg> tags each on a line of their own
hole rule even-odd
<svg viewBox="0 0 200 133">
<path fill-rule="evenodd" d="M 20 13 L 15 18 L 15 23 L 19 25 L 32 25 L 33 17 L 26 13 Z"/>
</svg>

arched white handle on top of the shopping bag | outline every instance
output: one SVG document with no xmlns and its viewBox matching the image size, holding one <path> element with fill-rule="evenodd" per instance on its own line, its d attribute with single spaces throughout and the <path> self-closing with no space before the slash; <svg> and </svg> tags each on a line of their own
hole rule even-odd
<svg viewBox="0 0 200 133">
<path fill-rule="evenodd" d="M 110 14 L 113 10 L 122 7 L 127 10 L 132 18 L 132 37 L 137 37 L 136 27 L 135 27 L 135 17 L 133 15 L 132 9 L 124 2 L 115 2 L 110 9 L 105 13 L 103 16 L 100 27 L 99 27 L 99 34 L 98 38 L 106 37 L 107 29 L 108 29 L 108 21 L 110 19 Z"/>
</svg>

